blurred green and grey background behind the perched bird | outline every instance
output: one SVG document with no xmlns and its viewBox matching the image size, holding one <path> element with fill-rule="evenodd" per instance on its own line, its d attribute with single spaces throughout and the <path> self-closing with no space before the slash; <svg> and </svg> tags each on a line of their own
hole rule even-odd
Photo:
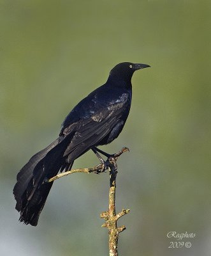
<svg viewBox="0 0 211 256">
<path fill-rule="evenodd" d="M 50 144 L 75 104 L 119 62 L 133 76 L 124 131 L 106 152 L 119 159 L 120 255 L 210 255 L 210 1 L 0 3 L 1 255 L 108 255 L 108 173 L 54 183 L 37 227 L 18 223 L 18 170 Z M 75 167 L 98 161 L 88 152 Z M 166 234 L 191 232 L 191 248 Z"/>
</svg>

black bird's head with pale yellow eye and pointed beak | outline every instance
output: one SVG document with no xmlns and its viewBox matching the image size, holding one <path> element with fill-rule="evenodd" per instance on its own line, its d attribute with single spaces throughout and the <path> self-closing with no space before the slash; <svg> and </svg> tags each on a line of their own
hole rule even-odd
<svg viewBox="0 0 211 256">
<path fill-rule="evenodd" d="M 136 70 L 142 68 L 148 68 L 150 65 L 141 64 L 141 63 L 131 63 L 131 62 L 122 62 L 117 64 L 112 70 L 110 71 L 108 79 L 112 79 L 113 81 L 126 81 L 131 82 L 131 78 L 133 73 Z"/>
</svg>

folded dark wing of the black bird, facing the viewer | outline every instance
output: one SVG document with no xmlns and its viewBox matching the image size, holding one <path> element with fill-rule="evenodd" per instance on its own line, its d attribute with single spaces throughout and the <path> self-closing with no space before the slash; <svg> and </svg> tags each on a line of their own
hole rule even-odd
<svg viewBox="0 0 211 256">
<path fill-rule="evenodd" d="M 99 141 L 112 131 L 126 108 L 126 102 L 118 102 L 107 108 L 99 109 L 91 117 L 82 118 L 79 122 L 66 127 L 63 131 L 64 135 L 75 130 L 64 152 L 64 156 L 68 156 L 68 163 L 87 152 L 92 146 L 98 145 Z"/>
</svg>

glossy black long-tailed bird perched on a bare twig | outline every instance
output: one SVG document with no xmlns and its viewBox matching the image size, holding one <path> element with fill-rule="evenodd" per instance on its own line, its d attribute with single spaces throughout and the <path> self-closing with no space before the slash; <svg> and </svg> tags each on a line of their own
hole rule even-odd
<svg viewBox="0 0 211 256">
<path fill-rule="evenodd" d="M 33 226 L 38 224 L 53 184 L 46 180 L 58 172 L 70 170 L 75 159 L 90 149 L 109 156 L 96 147 L 119 136 L 131 107 L 131 77 L 136 70 L 147 67 L 150 66 L 129 62 L 116 65 L 106 83 L 81 100 L 66 116 L 59 138 L 31 157 L 20 170 L 13 189 L 19 221 Z"/>
</svg>

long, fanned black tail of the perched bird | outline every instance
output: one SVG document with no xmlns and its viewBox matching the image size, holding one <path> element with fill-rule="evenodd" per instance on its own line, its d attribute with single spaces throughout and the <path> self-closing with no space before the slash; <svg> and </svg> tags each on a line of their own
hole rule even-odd
<svg viewBox="0 0 211 256">
<path fill-rule="evenodd" d="M 46 182 L 59 170 L 66 170 L 72 163 L 66 163 L 63 157 L 69 140 L 57 138 L 47 148 L 35 154 L 17 175 L 13 189 L 15 209 L 20 212 L 20 221 L 36 226 L 38 218 L 47 200 L 53 182 Z"/>
</svg>

